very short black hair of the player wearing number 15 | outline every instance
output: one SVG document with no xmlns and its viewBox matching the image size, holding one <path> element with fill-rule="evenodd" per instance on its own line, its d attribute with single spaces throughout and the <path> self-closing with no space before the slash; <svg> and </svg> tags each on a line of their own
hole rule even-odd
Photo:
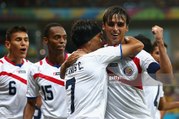
<svg viewBox="0 0 179 119">
<path fill-rule="evenodd" d="M 55 27 L 55 26 L 59 26 L 59 27 L 63 27 L 61 24 L 59 23 L 49 23 L 45 26 L 44 31 L 43 31 L 43 36 L 44 37 L 48 37 L 49 36 L 49 31 L 51 27 Z"/>
</svg>

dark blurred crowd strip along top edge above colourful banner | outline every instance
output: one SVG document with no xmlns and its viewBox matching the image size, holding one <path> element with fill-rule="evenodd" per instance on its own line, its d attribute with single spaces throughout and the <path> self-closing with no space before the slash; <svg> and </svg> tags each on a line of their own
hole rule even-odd
<svg viewBox="0 0 179 119">
<path fill-rule="evenodd" d="M 124 7 L 177 7 L 179 0 L 0 0 L 1 8 L 12 7 L 52 7 L 52 8 L 73 8 L 73 7 L 107 7 L 120 4 Z"/>
</svg>

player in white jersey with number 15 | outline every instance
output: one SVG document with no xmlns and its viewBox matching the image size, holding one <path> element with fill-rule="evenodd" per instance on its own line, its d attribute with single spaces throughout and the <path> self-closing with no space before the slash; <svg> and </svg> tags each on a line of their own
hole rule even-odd
<svg viewBox="0 0 179 119">
<path fill-rule="evenodd" d="M 65 51 L 67 33 L 60 24 L 49 23 L 44 28 L 43 42 L 48 47 L 48 55 L 35 63 L 30 70 L 24 119 L 32 118 L 35 101 L 39 94 L 44 119 L 66 119 L 65 87 L 59 70 L 69 55 Z"/>
</svg>

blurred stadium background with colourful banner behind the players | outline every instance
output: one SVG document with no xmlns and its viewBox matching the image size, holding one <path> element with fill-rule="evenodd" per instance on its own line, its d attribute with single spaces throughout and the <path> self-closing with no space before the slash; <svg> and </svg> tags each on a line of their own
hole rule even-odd
<svg viewBox="0 0 179 119">
<path fill-rule="evenodd" d="M 67 51 L 75 46 L 70 41 L 71 24 L 78 18 L 96 19 L 101 23 L 104 9 L 111 5 L 124 7 L 132 18 L 127 35 L 144 34 L 153 39 L 151 27 L 164 28 L 164 38 L 173 64 L 176 83 L 165 88 L 168 100 L 179 100 L 179 0 L 0 0 L 0 57 L 6 53 L 5 32 L 13 25 L 29 30 L 28 59 L 36 62 L 46 55 L 41 44 L 43 27 L 49 22 L 61 23 L 68 34 Z M 179 109 L 168 111 L 164 119 L 179 118 Z"/>
</svg>

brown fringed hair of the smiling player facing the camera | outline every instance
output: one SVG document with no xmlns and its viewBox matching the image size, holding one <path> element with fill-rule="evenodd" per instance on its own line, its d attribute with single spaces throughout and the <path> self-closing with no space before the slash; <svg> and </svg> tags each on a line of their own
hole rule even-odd
<svg viewBox="0 0 179 119">
<path fill-rule="evenodd" d="M 125 9 L 121 8 L 120 6 L 111 6 L 109 8 L 107 8 L 104 11 L 104 15 L 103 15 L 103 23 L 106 23 L 108 21 L 110 21 L 112 19 L 112 16 L 114 14 L 118 14 L 119 16 L 121 16 L 122 18 L 126 19 L 126 25 L 128 26 L 130 23 L 130 16 L 128 15 L 128 13 L 126 12 Z"/>
</svg>

